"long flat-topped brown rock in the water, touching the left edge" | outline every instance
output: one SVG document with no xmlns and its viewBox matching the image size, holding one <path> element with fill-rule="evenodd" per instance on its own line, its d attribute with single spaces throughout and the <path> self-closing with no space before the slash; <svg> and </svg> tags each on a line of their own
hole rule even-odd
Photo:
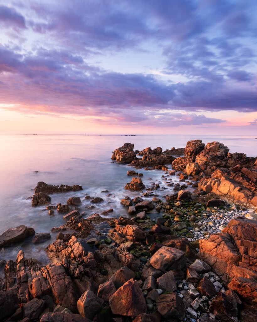
<svg viewBox="0 0 257 322">
<path fill-rule="evenodd" d="M 9 228 L 0 235 L 0 247 L 22 242 L 29 236 L 34 235 L 34 233 L 35 231 L 33 228 L 24 225 Z"/>
</svg>

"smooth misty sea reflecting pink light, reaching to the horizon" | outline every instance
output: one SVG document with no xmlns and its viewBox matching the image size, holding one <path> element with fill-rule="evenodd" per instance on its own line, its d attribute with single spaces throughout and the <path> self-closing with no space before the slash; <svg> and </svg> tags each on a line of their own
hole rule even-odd
<svg viewBox="0 0 257 322">
<path fill-rule="evenodd" d="M 51 232 L 53 227 L 65 223 L 62 214 L 55 211 L 49 216 L 45 206 L 31 207 L 33 189 L 38 181 L 53 185 L 82 185 L 79 192 L 51 194 L 51 204 L 62 203 L 71 196 L 79 196 L 82 200 L 80 212 L 84 217 L 93 213 L 113 208 L 112 216 L 127 215 L 127 209 L 120 205 L 120 199 L 125 195 L 131 197 L 139 195 L 128 192 L 124 186 L 131 180 L 127 176 L 127 165 L 113 163 L 112 151 L 125 142 L 134 143 L 134 150 L 145 147 L 162 147 L 163 150 L 172 147 L 185 147 L 186 142 L 201 139 L 204 143 L 219 141 L 229 147 L 230 152 L 243 152 L 247 156 L 256 156 L 257 140 L 251 136 L 218 137 L 194 135 L 140 135 L 140 136 L 98 136 L 98 135 L 19 135 L 0 136 L 0 234 L 10 227 L 26 225 L 33 227 L 36 232 Z M 38 171 L 37 173 L 35 171 Z M 153 170 L 143 173 L 143 183 L 150 186 L 153 182 L 160 182 L 162 171 Z M 177 179 L 173 177 L 173 182 Z M 172 193 L 172 187 L 159 192 L 160 196 Z M 108 190 L 108 193 L 102 191 Z M 85 200 L 85 194 L 101 196 L 104 202 L 95 204 L 93 210 L 86 210 L 90 200 Z M 0 250 L 1 259 L 15 259 L 18 251 L 23 249 L 26 257 L 33 257 L 47 262 L 44 252 L 50 242 L 56 239 L 51 233 L 51 240 L 34 245 L 31 239 L 22 244 Z"/>
</svg>

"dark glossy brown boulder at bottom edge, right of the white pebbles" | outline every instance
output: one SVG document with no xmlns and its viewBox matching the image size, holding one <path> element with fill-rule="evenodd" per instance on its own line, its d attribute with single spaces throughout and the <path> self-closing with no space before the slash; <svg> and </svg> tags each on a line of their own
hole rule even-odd
<svg viewBox="0 0 257 322">
<path fill-rule="evenodd" d="M 225 322 L 237 322 L 237 303 L 235 299 L 225 293 L 218 293 L 212 300 L 210 311 L 218 320 Z"/>
</svg>

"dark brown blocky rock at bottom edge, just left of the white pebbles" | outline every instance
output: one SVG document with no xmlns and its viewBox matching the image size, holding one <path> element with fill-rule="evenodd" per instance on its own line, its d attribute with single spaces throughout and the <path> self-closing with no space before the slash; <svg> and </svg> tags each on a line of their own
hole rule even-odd
<svg viewBox="0 0 257 322">
<path fill-rule="evenodd" d="M 161 294 L 156 299 L 157 311 L 167 320 L 173 318 L 183 320 L 185 317 L 185 304 L 177 293 Z"/>
</svg>

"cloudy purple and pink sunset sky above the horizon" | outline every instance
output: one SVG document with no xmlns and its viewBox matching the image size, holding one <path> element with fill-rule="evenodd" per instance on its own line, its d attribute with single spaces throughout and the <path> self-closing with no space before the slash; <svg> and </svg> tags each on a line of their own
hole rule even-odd
<svg viewBox="0 0 257 322">
<path fill-rule="evenodd" d="M 257 136 L 256 0 L 0 0 L 0 134 Z"/>
</svg>

